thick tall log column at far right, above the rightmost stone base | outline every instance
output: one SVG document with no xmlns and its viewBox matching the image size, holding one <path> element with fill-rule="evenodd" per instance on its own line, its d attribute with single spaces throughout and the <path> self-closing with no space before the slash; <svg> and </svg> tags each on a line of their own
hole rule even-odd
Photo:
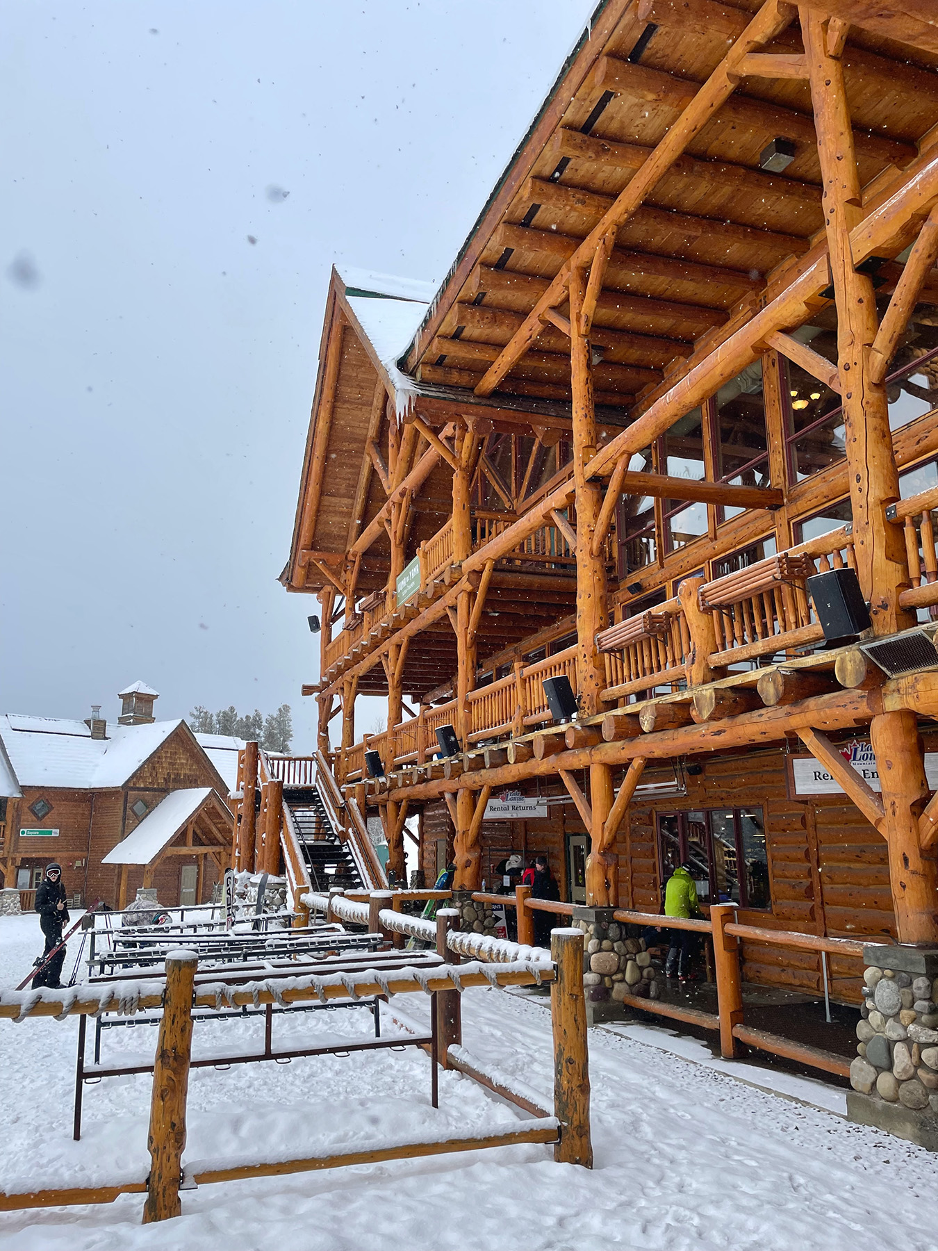
<svg viewBox="0 0 938 1251">
<path fill-rule="evenodd" d="M 885 388 L 873 380 L 878 330 L 872 279 L 853 268 L 849 231 L 860 218 L 860 185 L 844 89 L 843 66 L 828 53 L 828 21 L 799 8 L 810 75 L 814 123 L 824 185 L 824 224 L 837 303 L 838 370 L 853 510 L 857 574 L 870 603 L 873 631 L 889 634 L 914 624 L 899 608 L 908 585 L 902 528 L 885 519 L 899 498 Z M 932 941 L 935 924 L 935 862 L 923 856 L 918 816 L 927 793 L 915 717 L 887 712 L 870 727 L 883 787 L 882 833 L 889 844 L 889 881 L 900 942 Z"/>
</svg>

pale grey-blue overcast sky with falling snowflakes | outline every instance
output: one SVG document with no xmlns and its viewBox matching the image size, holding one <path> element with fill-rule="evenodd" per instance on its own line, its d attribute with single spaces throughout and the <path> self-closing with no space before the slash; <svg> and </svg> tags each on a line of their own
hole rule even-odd
<svg viewBox="0 0 938 1251">
<path fill-rule="evenodd" d="M 276 575 L 330 265 L 439 280 L 593 4 L 5 0 L 0 712 L 143 678 L 314 746 Z"/>
</svg>

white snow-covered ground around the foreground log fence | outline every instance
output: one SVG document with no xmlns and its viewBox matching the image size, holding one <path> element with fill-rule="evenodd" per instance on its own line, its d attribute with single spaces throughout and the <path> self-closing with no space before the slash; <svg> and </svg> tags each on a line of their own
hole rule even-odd
<svg viewBox="0 0 938 1251">
<path fill-rule="evenodd" d="M 0 918 L 0 986 L 24 976 L 38 934 L 35 917 Z M 388 1011 L 400 1005 L 425 1022 L 424 997 L 403 1000 Z M 470 1052 L 549 1097 L 550 1017 L 542 1002 L 470 991 L 463 1026 Z M 196 1053 L 241 1048 L 260 1028 L 196 1027 Z M 146 1171 L 149 1076 L 86 1087 L 83 1140 L 71 1141 L 76 1030 L 74 1020 L 0 1021 L 0 1190 Z M 275 1043 L 288 1030 L 320 1041 L 365 1035 L 371 1022 L 360 1008 L 306 1013 L 275 1026 Z M 150 1027 L 109 1030 L 103 1058 L 151 1051 L 155 1037 Z M 203 1186 L 184 1192 L 180 1218 L 160 1225 L 140 1225 L 140 1195 L 0 1213 L 0 1243 L 30 1251 L 935 1246 L 938 1157 L 808 1106 L 842 1106 L 829 1087 L 790 1078 L 789 1097 L 779 1097 L 748 1085 L 760 1080 L 753 1067 L 722 1066 L 699 1045 L 648 1027 L 592 1031 L 590 1077 L 592 1172 L 554 1163 L 550 1147 L 497 1148 Z M 765 1072 L 765 1085 L 778 1082 Z M 185 1160 L 283 1158 L 518 1121 L 455 1073 L 440 1075 L 439 1111 L 429 1087 L 429 1061 L 413 1048 L 194 1070 Z"/>
</svg>

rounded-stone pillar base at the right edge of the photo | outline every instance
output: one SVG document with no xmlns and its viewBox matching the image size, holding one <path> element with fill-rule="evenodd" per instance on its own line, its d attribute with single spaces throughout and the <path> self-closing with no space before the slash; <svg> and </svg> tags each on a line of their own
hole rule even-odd
<svg viewBox="0 0 938 1251">
<path fill-rule="evenodd" d="M 938 1150 L 938 948 L 868 945 L 863 960 L 848 1116 Z"/>
</svg>

